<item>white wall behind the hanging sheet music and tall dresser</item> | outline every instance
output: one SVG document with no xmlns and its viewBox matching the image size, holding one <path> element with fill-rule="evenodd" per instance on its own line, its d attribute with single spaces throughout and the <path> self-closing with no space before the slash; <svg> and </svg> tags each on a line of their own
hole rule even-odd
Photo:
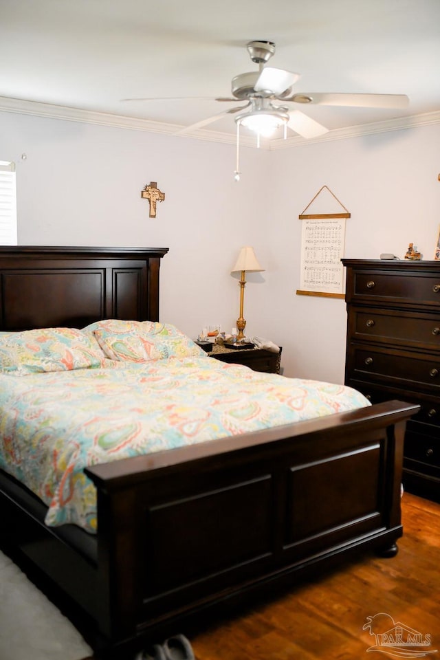
<svg viewBox="0 0 440 660">
<path fill-rule="evenodd" d="M 344 256 L 379 259 L 382 252 L 393 252 L 403 259 L 412 242 L 424 259 L 433 259 L 440 223 L 439 153 L 439 125 L 272 153 L 280 267 L 270 272 L 268 316 L 278 319 L 272 324 L 274 340 L 288 347 L 283 359 L 287 375 L 344 380 L 344 300 L 296 295 L 298 215 L 327 185 L 351 213 Z"/>
</svg>

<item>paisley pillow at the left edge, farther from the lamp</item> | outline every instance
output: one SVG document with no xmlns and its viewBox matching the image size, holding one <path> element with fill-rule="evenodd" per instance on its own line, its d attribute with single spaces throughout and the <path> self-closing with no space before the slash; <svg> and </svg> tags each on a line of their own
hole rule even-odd
<svg viewBox="0 0 440 660">
<path fill-rule="evenodd" d="M 0 372 L 23 376 L 102 366 L 98 342 L 76 328 L 43 328 L 0 335 Z"/>
</svg>

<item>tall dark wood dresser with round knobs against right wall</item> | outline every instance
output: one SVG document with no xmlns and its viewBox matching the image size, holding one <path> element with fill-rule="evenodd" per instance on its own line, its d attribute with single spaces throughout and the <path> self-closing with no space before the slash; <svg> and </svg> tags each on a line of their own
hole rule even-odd
<svg viewBox="0 0 440 660">
<path fill-rule="evenodd" d="M 421 405 L 407 424 L 404 487 L 440 501 L 440 261 L 342 263 L 345 382 L 372 403 Z"/>
</svg>

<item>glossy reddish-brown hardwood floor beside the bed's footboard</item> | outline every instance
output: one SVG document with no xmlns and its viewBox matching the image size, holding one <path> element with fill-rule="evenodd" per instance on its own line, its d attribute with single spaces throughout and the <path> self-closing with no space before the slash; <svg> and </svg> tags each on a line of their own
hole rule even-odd
<svg viewBox="0 0 440 660">
<path fill-rule="evenodd" d="M 440 505 L 404 494 L 404 536 L 391 559 L 363 561 L 192 635 L 197 660 L 358 660 L 375 644 L 362 630 L 385 613 L 423 636 L 440 658 Z M 382 652 L 376 657 L 387 657 Z"/>
</svg>

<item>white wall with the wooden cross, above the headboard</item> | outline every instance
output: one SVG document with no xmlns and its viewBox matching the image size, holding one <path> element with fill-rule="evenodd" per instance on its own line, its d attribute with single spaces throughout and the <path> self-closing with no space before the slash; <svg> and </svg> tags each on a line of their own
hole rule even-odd
<svg viewBox="0 0 440 660">
<path fill-rule="evenodd" d="M 169 248 L 162 320 L 192 337 L 206 325 L 235 325 L 239 285 L 230 270 L 241 245 L 259 254 L 254 190 L 269 153 L 243 148 L 236 183 L 230 144 L 15 113 L 0 114 L 0 151 L 17 163 L 20 244 Z M 150 181 L 165 192 L 155 219 L 141 198 Z M 256 334 L 258 314 L 252 322 L 249 309 L 247 318 Z"/>
</svg>

